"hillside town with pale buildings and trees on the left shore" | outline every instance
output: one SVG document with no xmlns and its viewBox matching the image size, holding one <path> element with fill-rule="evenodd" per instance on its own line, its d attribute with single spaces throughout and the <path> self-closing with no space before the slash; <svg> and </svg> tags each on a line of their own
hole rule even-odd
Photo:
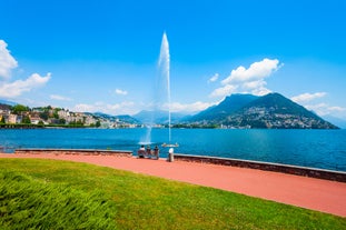
<svg viewBox="0 0 346 230">
<path fill-rule="evenodd" d="M 119 118 L 72 112 L 62 108 L 29 108 L 22 104 L 0 104 L 1 127 L 80 127 L 80 128 L 136 128 L 137 124 L 121 121 Z"/>
</svg>

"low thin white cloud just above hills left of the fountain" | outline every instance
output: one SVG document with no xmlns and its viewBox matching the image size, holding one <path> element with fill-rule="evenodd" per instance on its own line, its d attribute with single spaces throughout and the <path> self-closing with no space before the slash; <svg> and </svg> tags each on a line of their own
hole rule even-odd
<svg viewBox="0 0 346 230">
<path fill-rule="evenodd" d="M 93 104 L 79 103 L 72 109 L 76 112 L 103 112 L 108 114 L 134 114 L 137 112 L 135 103 L 131 101 L 125 101 L 121 103 L 105 103 L 96 102 Z"/>
</svg>

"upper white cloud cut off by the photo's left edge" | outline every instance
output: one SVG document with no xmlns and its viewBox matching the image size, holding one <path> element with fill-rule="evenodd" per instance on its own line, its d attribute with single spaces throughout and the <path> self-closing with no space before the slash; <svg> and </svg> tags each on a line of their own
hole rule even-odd
<svg viewBox="0 0 346 230">
<path fill-rule="evenodd" d="M 18 63 L 7 49 L 7 43 L 0 40 L 0 78 L 9 79 L 11 70 L 17 68 Z"/>
</svg>

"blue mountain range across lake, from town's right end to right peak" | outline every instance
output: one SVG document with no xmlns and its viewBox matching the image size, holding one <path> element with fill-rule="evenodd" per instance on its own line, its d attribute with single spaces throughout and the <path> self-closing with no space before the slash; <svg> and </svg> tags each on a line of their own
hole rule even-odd
<svg viewBox="0 0 346 230">
<path fill-rule="evenodd" d="M 138 126 L 168 124 L 168 111 L 162 110 L 142 110 L 134 116 L 86 113 Z M 263 97 L 230 94 L 218 104 L 194 116 L 172 112 L 171 124 L 188 128 L 338 129 L 313 111 L 308 111 L 277 92 Z"/>
</svg>

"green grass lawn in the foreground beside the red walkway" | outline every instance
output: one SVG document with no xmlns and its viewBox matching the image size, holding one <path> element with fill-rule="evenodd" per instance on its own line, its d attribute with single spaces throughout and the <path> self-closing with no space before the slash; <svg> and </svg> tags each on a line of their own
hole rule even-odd
<svg viewBox="0 0 346 230">
<path fill-rule="evenodd" d="M 55 160 L 0 159 L 0 229 L 346 229 L 346 219 Z"/>
</svg>

